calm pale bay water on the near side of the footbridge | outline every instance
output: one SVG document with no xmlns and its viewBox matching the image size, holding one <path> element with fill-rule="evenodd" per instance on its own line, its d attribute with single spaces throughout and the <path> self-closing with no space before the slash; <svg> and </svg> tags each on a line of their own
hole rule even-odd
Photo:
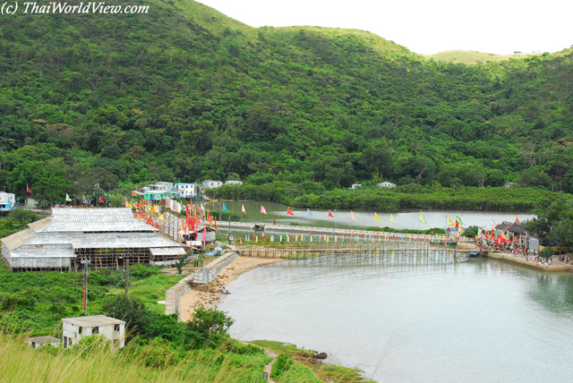
<svg viewBox="0 0 573 383">
<path fill-rule="evenodd" d="M 573 275 L 494 260 L 289 261 L 227 285 L 232 336 L 292 343 L 380 382 L 570 382 Z"/>
</svg>

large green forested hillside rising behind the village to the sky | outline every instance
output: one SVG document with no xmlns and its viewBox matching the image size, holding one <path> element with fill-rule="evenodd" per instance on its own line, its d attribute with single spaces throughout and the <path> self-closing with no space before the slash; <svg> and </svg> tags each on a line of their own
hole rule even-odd
<svg viewBox="0 0 573 383">
<path fill-rule="evenodd" d="M 6 191 L 236 177 L 573 189 L 570 50 L 454 64 L 364 31 L 146 4 L 0 18 Z"/>
</svg>

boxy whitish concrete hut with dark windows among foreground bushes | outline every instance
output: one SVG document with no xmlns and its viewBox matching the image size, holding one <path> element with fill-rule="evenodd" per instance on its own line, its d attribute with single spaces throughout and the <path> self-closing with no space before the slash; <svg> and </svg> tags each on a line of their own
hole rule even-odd
<svg viewBox="0 0 573 383">
<path fill-rule="evenodd" d="M 64 348 L 77 345 L 83 336 L 105 336 L 112 342 L 112 350 L 116 351 L 125 345 L 125 322 L 123 320 L 92 315 L 62 319 L 64 323 Z"/>
</svg>

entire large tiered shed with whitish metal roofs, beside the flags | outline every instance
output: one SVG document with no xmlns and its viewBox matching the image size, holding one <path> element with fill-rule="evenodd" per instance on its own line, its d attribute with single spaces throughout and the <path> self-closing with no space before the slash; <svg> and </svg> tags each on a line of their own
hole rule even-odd
<svg viewBox="0 0 573 383">
<path fill-rule="evenodd" d="M 173 265 L 186 252 L 133 217 L 131 209 L 52 209 L 50 217 L 2 240 L 4 263 L 11 270 L 122 268 L 124 260 Z"/>
</svg>

